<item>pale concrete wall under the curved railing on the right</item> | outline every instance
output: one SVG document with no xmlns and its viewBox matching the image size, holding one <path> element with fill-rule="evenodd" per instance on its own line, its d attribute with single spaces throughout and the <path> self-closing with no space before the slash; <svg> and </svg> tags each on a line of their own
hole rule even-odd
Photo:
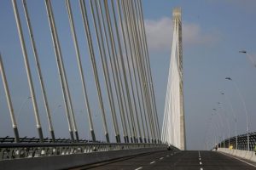
<svg viewBox="0 0 256 170">
<path fill-rule="evenodd" d="M 256 162 L 256 154 L 254 151 L 247 151 L 247 150 L 229 150 L 228 148 L 218 148 L 218 151 L 224 152 L 231 156 L 237 156 L 242 159 L 246 159 L 248 161 Z"/>
</svg>

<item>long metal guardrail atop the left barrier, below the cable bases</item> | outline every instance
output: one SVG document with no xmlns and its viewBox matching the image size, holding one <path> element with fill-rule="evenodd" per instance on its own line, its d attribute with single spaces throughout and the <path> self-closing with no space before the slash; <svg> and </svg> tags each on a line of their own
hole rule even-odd
<svg viewBox="0 0 256 170">
<path fill-rule="evenodd" d="M 96 151 L 131 150 L 166 147 L 166 144 L 117 144 L 117 143 L 16 143 L 0 144 L 0 161 L 42 156 L 85 154 Z"/>
</svg>

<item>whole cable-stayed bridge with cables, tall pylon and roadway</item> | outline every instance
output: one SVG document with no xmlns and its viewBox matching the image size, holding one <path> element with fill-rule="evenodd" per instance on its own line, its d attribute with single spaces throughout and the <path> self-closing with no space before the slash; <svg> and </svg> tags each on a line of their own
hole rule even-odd
<svg viewBox="0 0 256 170">
<path fill-rule="evenodd" d="M 12 82 L 5 70 L 8 56 L 0 54 L 3 91 L 13 128 L 13 133 L 0 139 L 0 169 L 203 169 L 207 166 L 218 167 L 217 161 L 224 161 L 225 164 L 220 165 L 223 167 L 229 168 L 236 163 L 237 167 L 253 169 L 252 165 L 217 152 L 186 150 L 181 8 L 173 10 L 174 29 L 166 105 L 164 118 L 160 120 L 155 103 L 143 3 L 140 0 L 65 0 L 62 3 L 65 3 L 69 25 L 68 28 L 60 28 L 55 18 L 58 8 L 54 8 L 53 1 L 44 0 L 50 48 L 54 51 L 65 108 L 61 116 L 66 116 L 69 133 L 69 138 L 61 139 L 55 133 L 58 124 L 52 118 L 54 111 L 49 109 L 51 99 L 46 88 L 49 82 L 44 78 L 42 67 L 42 60 L 46 56 L 38 50 L 41 43 L 36 40 L 38 31 L 31 20 L 35 9 L 29 8 L 29 1 L 26 0 L 12 0 L 11 3 L 30 94 L 20 110 L 16 111 L 12 89 L 9 88 Z M 80 20 L 76 19 L 77 11 Z M 83 28 L 82 31 L 79 26 Z M 69 63 L 63 59 L 62 29 L 67 29 L 72 35 L 70 41 L 73 46 L 68 48 L 73 48 L 75 55 L 69 58 L 77 62 L 82 87 L 80 93 L 88 117 L 88 122 L 84 122 L 87 129 L 79 129 L 77 123 L 79 118 L 75 114 L 74 104 L 78 100 L 73 98 L 70 77 L 67 76 Z M 81 40 L 86 46 L 81 45 Z M 84 58 L 90 60 L 91 79 L 85 77 Z M 35 88 L 37 83 L 40 90 Z M 94 95 L 100 111 L 100 130 L 96 130 L 99 125 L 92 109 L 89 83 L 96 89 Z M 38 94 L 43 99 L 42 103 L 38 102 Z M 37 137 L 29 133 L 26 137 L 20 135 L 20 122 L 17 119 L 28 100 L 32 101 L 33 128 L 37 129 Z M 39 105 L 44 105 L 46 125 L 42 123 L 43 113 L 38 109 Z M 59 107 L 61 105 L 57 105 L 56 109 Z M 90 135 L 81 138 L 88 131 Z M 221 144 L 218 145 L 221 147 Z M 217 161 L 212 162 L 212 159 Z"/>
</svg>

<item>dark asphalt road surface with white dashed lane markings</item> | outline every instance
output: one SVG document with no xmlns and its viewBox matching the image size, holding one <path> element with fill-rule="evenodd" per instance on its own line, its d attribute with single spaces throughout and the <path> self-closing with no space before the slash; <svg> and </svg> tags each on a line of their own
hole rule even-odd
<svg viewBox="0 0 256 170">
<path fill-rule="evenodd" d="M 90 166 L 78 167 L 75 169 L 185 169 L 185 170 L 255 170 L 255 167 L 246 162 L 239 161 L 230 156 L 225 156 L 215 151 L 161 151 L 141 156 L 132 156 L 113 161 L 106 161 Z"/>
</svg>

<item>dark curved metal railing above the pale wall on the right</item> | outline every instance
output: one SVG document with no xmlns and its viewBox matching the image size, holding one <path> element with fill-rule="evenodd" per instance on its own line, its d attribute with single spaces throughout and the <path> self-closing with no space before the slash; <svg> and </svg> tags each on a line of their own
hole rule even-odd
<svg viewBox="0 0 256 170">
<path fill-rule="evenodd" d="M 237 146 L 236 146 L 237 138 Z M 249 150 L 254 150 L 256 145 L 256 132 L 249 133 Z M 218 143 L 218 147 L 229 148 L 232 146 L 233 149 L 237 150 L 247 150 L 247 133 L 238 135 L 237 137 L 231 137 L 230 139 L 224 139 Z"/>
</svg>

